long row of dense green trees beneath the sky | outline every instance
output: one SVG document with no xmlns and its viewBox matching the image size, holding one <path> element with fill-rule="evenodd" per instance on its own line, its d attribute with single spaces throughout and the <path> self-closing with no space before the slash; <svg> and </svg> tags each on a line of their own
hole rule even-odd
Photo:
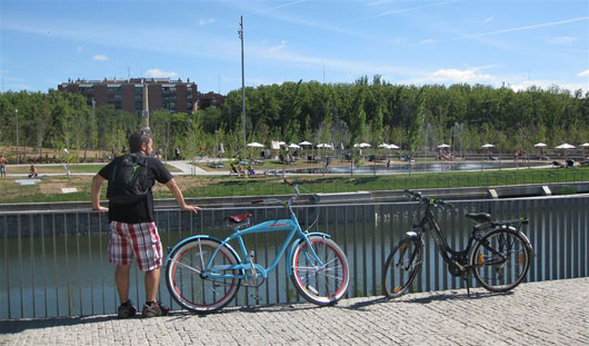
<svg viewBox="0 0 589 346">
<path fill-rule="evenodd" d="M 193 115 L 151 113 L 156 149 L 181 148 L 187 157 L 226 155 L 243 148 L 241 91 L 228 93 L 221 109 Z M 18 109 L 18 113 L 16 112 Z M 248 140 L 269 142 L 372 145 L 393 142 L 405 150 L 432 149 L 441 142 L 455 150 L 529 149 L 535 142 L 557 145 L 589 140 L 589 92 L 552 87 L 516 92 L 489 86 L 393 86 L 375 76 L 355 83 L 284 82 L 246 90 Z M 100 149 L 120 152 L 126 137 L 140 127 L 140 116 L 112 105 L 92 108 L 69 92 L 0 93 L 0 145 L 14 146 L 16 121 L 21 146 Z"/>
</svg>

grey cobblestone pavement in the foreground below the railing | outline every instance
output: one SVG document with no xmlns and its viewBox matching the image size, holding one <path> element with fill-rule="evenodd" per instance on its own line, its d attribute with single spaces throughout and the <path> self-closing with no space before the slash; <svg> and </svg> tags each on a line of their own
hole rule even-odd
<svg viewBox="0 0 589 346">
<path fill-rule="evenodd" d="M 589 278 L 197 316 L 0 320 L 0 345 L 589 345 Z"/>
</svg>

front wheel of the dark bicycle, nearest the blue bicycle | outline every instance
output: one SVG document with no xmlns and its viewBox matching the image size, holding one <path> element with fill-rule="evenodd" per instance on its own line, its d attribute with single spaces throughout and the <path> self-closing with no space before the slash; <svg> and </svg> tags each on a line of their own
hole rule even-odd
<svg viewBox="0 0 589 346">
<path fill-rule="evenodd" d="M 405 238 L 392 250 L 382 268 L 385 296 L 397 298 L 410 287 L 423 263 L 423 246 L 419 239 Z"/>
</svg>

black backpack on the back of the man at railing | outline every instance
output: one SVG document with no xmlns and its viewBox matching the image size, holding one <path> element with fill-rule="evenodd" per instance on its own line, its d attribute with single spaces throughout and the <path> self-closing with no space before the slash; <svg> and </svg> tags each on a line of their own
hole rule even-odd
<svg viewBox="0 0 589 346">
<path fill-rule="evenodd" d="M 141 154 L 128 154 L 114 159 L 107 198 L 117 204 L 137 202 L 148 195 L 151 186 L 147 158 Z"/>
</svg>

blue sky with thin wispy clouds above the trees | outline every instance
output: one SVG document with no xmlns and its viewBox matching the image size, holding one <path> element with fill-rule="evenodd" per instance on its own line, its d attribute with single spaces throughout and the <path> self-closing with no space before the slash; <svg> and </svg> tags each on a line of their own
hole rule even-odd
<svg viewBox="0 0 589 346">
<path fill-rule="evenodd" d="M 557 85 L 589 91 L 587 0 L 0 0 L 2 90 L 77 79 Z"/>
</svg>

